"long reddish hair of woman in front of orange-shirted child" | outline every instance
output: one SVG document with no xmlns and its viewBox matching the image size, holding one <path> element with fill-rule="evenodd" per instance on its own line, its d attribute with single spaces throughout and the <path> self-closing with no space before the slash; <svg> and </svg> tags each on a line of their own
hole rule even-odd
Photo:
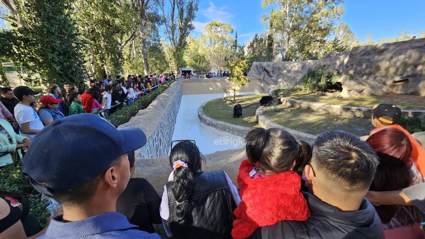
<svg viewBox="0 0 425 239">
<path fill-rule="evenodd" d="M 409 169 L 412 166 L 410 159 L 412 145 L 404 132 L 386 127 L 370 135 L 366 143 L 375 150 L 380 159 L 370 190 L 394 191 L 411 185 Z M 395 205 L 375 208 L 383 223 L 389 222 L 397 210 Z"/>
</svg>

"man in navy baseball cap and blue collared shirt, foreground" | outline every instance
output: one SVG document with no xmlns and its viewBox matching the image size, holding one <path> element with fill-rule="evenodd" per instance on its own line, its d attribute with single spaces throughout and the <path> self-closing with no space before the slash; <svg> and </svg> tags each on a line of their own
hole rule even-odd
<svg viewBox="0 0 425 239">
<path fill-rule="evenodd" d="M 139 139 L 126 140 L 126 139 Z M 116 212 L 130 179 L 127 153 L 146 143 L 134 127 L 117 130 L 94 114 L 52 122 L 25 155 L 23 172 L 40 193 L 58 201 L 64 214 L 52 218 L 39 238 L 160 238 L 135 228 Z"/>
</svg>

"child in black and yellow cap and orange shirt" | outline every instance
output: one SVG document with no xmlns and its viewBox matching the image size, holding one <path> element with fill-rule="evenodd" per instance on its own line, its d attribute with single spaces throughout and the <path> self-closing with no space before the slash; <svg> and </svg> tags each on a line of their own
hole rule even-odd
<svg viewBox="0 0 425 239">
<path fill-rule="evenodd" d="M 416 164 L 419 172 L 425 175 L 425 149 L 416 141 L 408 131 L 398 125 L 401 118 L 401 109 L 393 104 L 376 104 L 372 108 L 372 125 L 376 128 L 370 131 L 370 135 L 375 134 L 381 129 L 387 127 L 397 128 L 409 137 L 412 145 L 412 154 L 410 158 Z"/>
</svg>

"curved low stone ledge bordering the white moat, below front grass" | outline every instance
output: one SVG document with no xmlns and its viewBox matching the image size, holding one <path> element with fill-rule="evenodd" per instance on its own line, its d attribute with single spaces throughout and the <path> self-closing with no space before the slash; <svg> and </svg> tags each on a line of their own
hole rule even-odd
<svg viewBox="0 0 425 239">
<path fill-rule="evenodd" d="M 209 100 L 209 101 L 211 101 L 211 100 Z M 199 121 L 202 124 L 209 126 L 209 127 L 212 127 L 212 128 L 215 128 L 215 129 L 220 130 L 220 131 L 228 132 L 228 133 L 236 135 L 236 136 L 240 136 L 240 137 L 246 136 L 246 133 L 248 132 L 248 130 L 250 128 L 232 125 L 230 123 L 219 121 L 219 120 L 216 120 L 215 118 L 211 118 L 211 117 L 207 116 L 203 112 L 202 108 L 209 101 L 206 101 L 205 103 L 201 104 L 201 106 L 199 106 L 199 108 L 198 108 L 198 118 L 199 118 Z"/>
</svg>

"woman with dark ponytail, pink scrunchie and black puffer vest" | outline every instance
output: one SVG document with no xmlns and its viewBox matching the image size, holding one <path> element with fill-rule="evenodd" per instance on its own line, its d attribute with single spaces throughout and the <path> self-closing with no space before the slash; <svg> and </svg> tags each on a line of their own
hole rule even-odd
<svg viewBox="0 0 425 239">
<path fill-rule="evenodd" d="M 232 238 L 238 191 L 226 172 L 202 171 L 203 157 L 194 142 L 179 140 L 171 150 L 173 171 L 160 207 L 164 229 L 177 239 Z"/>
</svg>

